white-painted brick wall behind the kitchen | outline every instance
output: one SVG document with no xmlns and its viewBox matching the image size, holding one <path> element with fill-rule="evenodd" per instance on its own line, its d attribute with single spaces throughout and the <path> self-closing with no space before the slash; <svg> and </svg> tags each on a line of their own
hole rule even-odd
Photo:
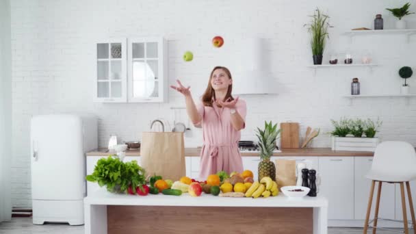
<svg viewBox="0 0 416 234">
<path fill-rule="evenodd" d="M 382 13 L 385 28 L 393 25 L 387 7 L 407 1 L 12 1 L 13 77 L 13 205 L 30 207 L 29 119 L 34 114 L 92 112 L 101 118 L 99 144 L 105 146 L 114 133 L 121 140 L 140 138 L 155 118 L 172 121 L 170 107 L 183 106 L 183 98 L 170 91 L 169 103 L 97 104 L 92 103 L 94 42 L 100 38 L 164 36 L 168 40 L 169 81 L 180 78 L 192 86 L 195 97 L 205 89 L 209 72 L 216 65 L 229 66 L 238 82 L 242 70 L 242 38 L 265 38 L 265 57 L 277 77 L 278 96 L 249 96 L 245 140 L 255 140 L 253 130 L 264 120 L 301 123 L 320 127 L 322 134 L 312 146 L 329 146 L 326 132 L 330 118 L 341 116 L 380 118 L 382 140 L 406 140 L 416 145 L 416 99 L 406 105 L 401 98 L 359 99 L 348 105 L 341 95 L 348 94 L 353 77 L 359 77 L 362 93 L 399 92 L 400 66 L 413 66 L 416 37 L 404 43 L 403 36 L 359 36 L 352 43 L 343 31 L 372 27 Z M 416 11 L 416 1 L 412 0 Z M 304 23 L 319 7 L 328 12 L 330 51 L 352 51 L 360 56 L 371 53 L 380 66 L 367 68 L 328 68 L 313 70 L 309 37 Z M 408 16 L 416 28 L 415 16 Z M 211 38 L 224 37 L 222 49 L 211 46 Z M 185 63 L 183 52 L 194 52 L 194 61 Z M 246 58 L 244 58 L 246 59 Z M 339 57 L 342 60 L 343 57 Z M 359 59 L 356 59 L 359 60 Z M 416 87 L 416 78 L 408 79 Z M 413 90 L 416 92 L 416 90 Z M 186 138 L 186 146 L 201 143 L 200 131 Z"/>
</svg>

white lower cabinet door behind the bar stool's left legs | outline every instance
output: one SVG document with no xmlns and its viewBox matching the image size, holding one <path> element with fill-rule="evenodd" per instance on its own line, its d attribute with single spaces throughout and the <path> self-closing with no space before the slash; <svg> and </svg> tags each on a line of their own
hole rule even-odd
<svg viewBox="0 0 416 234">
<path fill-rule="evenodd" d="M 372 181 L 367 179 L 365 175 L 372 167 L 373 157 L 354 157 L 354 219 L 365 220 L 367 213 L 367 205 L 369 191 Z M 374 210 L 376 209 L 378 182 L 374 187 L 374 196 L 372 202 L 372 211 L 370 218 L 374 218 Z M 394 219 L 394 200 L 395 188 L 393 183 L 382 183 L 380 207 L 378 209 L 378 217 Z"/>
</svg>

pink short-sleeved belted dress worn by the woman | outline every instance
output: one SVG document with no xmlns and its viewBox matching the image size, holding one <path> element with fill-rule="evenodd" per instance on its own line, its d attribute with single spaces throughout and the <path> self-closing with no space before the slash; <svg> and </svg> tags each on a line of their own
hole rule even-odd
<svg viewBox="0 0 416 234">
<path fill-rule="evenodd" d="M 200 152 L 200 179 L 206 179 L 209 174 L 216 174 L 224 170 L 242 172 L 243 162 L 238 149 L 241 132 L 235 131 L 231 124 L 229 108 L 206 107 L 198 105 L 198 113 L 202 116 L 203 148 Z M 235 109 L 246 121 L 246 101 L 238 99 Z"/>
</svg>

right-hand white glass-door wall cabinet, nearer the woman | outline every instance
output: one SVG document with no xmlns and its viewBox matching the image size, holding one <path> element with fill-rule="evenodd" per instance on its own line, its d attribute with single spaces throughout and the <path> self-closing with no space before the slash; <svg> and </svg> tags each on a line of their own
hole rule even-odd
<svg viewBox="0 0 416 234">
<path fill-rule="evenodd" d="M 167 51 L 164 38 L 129 38 L 127 68 L 129 103 L 167 101 Z"/>
</svg>

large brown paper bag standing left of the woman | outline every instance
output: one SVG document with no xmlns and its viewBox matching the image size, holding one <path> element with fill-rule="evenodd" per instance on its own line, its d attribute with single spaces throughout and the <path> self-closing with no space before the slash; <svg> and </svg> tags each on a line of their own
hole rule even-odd
<svg viewBox="0 0 416 234">
<path fill-rule="evenodd" d="M 144 132 L 140 146 L 141 165 L 148 175 L 179 181 L 186 174 L 183 133 Z"/>
</svg>

